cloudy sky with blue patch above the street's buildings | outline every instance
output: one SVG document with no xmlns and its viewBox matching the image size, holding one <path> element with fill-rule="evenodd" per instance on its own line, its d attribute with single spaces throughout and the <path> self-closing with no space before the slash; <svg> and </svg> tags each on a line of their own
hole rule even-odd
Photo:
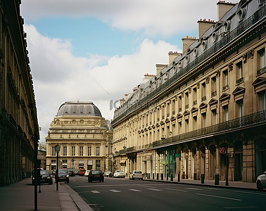
<svg viewBox="0 0 266 211">
<path fill-rule="evenodd" d="M 93 101 L 112 120 L 115 101 L 198 37 L 198 20 L 217 20 L 216 0 L 22 2 L 42 142 L 65 101 Z"/>
</svg>

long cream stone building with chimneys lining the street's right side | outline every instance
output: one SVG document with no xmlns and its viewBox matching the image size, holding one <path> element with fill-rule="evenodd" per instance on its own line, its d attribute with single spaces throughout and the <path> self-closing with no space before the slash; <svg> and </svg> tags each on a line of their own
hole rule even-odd
<svg viewBox="0 0 266 211">
<path fill-rule="evenodd" d="M 156 65 L 115 110 L 115 168 L 255 181 L 266 169 L 265 1 L 219 1 L 218 21 Z"/>
</svg>

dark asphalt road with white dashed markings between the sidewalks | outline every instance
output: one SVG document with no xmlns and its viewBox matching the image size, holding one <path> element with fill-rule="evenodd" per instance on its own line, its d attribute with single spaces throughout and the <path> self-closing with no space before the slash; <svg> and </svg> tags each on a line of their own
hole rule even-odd
<svg viewBox="0 0 266 211">
<path fill-rule="evenodd" d="M 266 193 L 157 181 L 105 177 L 88 183 L 71 177 L 70 184 L 93 210 L 266 210 Z"/>
</svg>

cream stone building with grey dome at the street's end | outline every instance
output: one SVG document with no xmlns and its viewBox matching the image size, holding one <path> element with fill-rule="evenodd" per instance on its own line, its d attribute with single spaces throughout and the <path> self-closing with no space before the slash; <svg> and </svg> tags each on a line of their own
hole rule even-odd
<svg viewBox="0 0 266 211">
<path fill-rule="evenodd" d="M 56 169 L 55 146 L 60 168 L 112 170 L 113 129 L 92 102 L 65 102 L 58 109 L 46 136 L 47 170 Z"/>
</svg>

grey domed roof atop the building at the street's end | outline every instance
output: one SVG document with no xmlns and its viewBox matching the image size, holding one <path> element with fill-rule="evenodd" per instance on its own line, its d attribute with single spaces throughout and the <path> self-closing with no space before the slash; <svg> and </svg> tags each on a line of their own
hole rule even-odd
<svg viewBox="0 0 266 211">
<path fill-rule="evenodd" d="M 62 115 L 90 115 L 101 117 L 101 112 L 92 102 L 65 102 L 57 112 L 57 116 Z"/>
</svg>

